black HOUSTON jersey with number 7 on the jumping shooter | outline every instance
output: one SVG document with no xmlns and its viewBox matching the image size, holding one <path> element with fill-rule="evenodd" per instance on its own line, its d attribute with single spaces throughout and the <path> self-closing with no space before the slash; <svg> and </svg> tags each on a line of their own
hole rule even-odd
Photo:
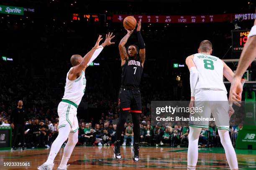
<svg viewBox="0 0 256 170">
<path fill-rule="evenodd" d="M 127 89 L 138 89 L 141 82 L 143 67 L 141 62 L 129 58 L 122 65 L 122 84 L 121 87 Z"/>
</svg>

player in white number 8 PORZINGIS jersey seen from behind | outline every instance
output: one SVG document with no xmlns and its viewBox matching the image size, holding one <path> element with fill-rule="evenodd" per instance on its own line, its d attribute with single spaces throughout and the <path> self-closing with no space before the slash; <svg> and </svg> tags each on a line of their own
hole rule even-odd
<svg viewBox="0 0 256 170">
<path fill-rule="evenodd" d="M 228 133 L 229 118 L 234 110 L 230 97 L 228 101 L 227 90 L 223 83 L 223 75 L 231 82 L 234 73 L 225 62 L 211 54 L 212 43 L 204 40 L 200 43 L 198 53 L 186 59 L 190 72 L 191 101 L 189 107 L 203 107 L 203 112 L 195 113 L 194 117 L 210 118 L 212 113 L 220 135 L 220 142 L 225 149 L 228 165 L 231 170 L 238 170 L 236 153 Z M 208 126 L 207 121 L 189 121 L 187 170 L 196 168 L 199 135 L 202 128 L 208 128 Z"/>
</svg>

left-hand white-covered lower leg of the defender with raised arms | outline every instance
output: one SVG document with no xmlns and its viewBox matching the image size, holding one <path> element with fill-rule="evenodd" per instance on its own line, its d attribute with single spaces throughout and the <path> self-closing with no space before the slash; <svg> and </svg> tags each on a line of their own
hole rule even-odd
<svg viewBox="0 0 256 170">
<path fill-rule="evenodd" d="M 62 144 L 67 140 L 71 127 L 69 125 L 66 125 L 65 127 L 59 128 L 59 135 L 54 140 L 54 142 L 51 145 L 51 151 L 48 156 L 48 159 L 46 160 L 45 164 L 51 165 L 54 162 L 54 158 L 58 154 Z"/>
</svg>

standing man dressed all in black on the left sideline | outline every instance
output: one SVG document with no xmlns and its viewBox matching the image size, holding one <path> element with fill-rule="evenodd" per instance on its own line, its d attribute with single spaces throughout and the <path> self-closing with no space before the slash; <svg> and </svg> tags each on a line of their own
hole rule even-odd
<svg viewBox="0 0 256 170">
<path fill-rule="evenodd" d="M 18 107 L 15 108 L 12 111 L 12 114 L 10 116 L 10 123 L 13 130 L 13 150 L 16 150 L 16 143 L 18 133 L 20 133 L 20 143 L 21 143 L 21 149 L 24 150 L 24 131 L 25 131 L 25 118 L 27 117 L 25 110 L 23 109 L 23 101 L 19 100 L 18 101 Z"/>
</svg>

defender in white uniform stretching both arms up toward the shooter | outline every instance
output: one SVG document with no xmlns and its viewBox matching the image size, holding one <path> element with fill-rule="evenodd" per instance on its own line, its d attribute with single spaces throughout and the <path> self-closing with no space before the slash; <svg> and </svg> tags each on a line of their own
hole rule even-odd
<svg viewBox="0 0 256 170">
<path fill-rule="evenodd" d="M 61 163 L 58 170 L 67 170 L 67 162 L 72 154 L 72 151 L 78 141 L 78 120 L 77 107 L 82 100 L 85 92 L 86 79 L 85 69 L 95 58 L 100 54 L 106 45 L 114 44 L 111 42 L 113 33 L 106 35 L 106 40 L 99 45 L 102 40 L 101 35 L 95 46 L 84 57 L 81 55 L 72 55 L 70 62 L 72 67 L 69 69 L 66 77 L 66 85 L 64 96 L 58 106 L 59 115 L 59 135 L 51 145 L 51 151 L 46 162 L 38 167 L 38 170 L 52 170 L 54 167 L 54 158 L 56 157 L 61 145 L 67 140 L 67 145 L 64 148 Z"/>
</svg>

